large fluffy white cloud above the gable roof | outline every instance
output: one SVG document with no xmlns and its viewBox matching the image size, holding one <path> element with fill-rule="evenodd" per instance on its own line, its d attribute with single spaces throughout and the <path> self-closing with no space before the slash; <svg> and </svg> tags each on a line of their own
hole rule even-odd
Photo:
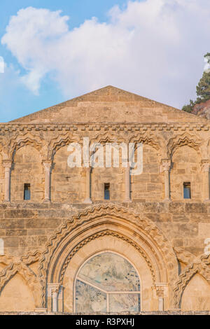
<svg viewBox="0 0 210 329">
<path fill-rule="evenodd" d="M 1 43 L 27 70 L 38 93 L 47 73 L 66 97 L 116 85 L 182 106 L 195 97 L 210 46 L 209 0 L 146 0 L 69 30 L 61 11 L 25 8 L 10 19 Z"/>
</svg>

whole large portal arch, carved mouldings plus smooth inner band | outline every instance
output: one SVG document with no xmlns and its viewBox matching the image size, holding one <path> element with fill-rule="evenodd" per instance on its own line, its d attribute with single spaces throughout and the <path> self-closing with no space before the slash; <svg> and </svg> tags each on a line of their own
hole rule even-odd
<svg viewBox="0 0 210 329">
<path fill-rule="evenodd" d="M 47 304 L 47 290 L 48 297 L 50 295 L 48 287 L 62 286 L 65 311 L 73 311 L 73 282 L 79 266 L 87 258 L 104 250 L 124 255 L 136 267 L 144 263 L 139 275 L 146 268 L 148 282 L 143 288 L 149 289 L 150 295 L 156 298 L 146 310 L 158 310 L 159 297 L 165 297 L 166 309 L 174 307 L 170 296 L 172 282 L 178 276 L 178 264 L 172 245 L 153 222 L 116 204 L 100 204 L 81 211 L 64 223 L 50 239 L 39 267 L 43 282 L 41 307 Z M 71 281 L 69 286 L 66 277 Z M 67 300 L 69 304 L 66 304 Z"/>
</svg>

